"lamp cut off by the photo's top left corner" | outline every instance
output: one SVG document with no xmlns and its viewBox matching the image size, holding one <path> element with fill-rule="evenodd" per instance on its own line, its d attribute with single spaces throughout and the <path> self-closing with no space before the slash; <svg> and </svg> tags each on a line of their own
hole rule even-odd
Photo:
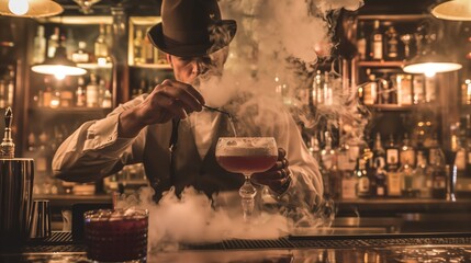
<svg viewBox="0 0 471 263">
<path fill-rule="evenodd" d="M 20 18 L 44 18 L 64 11 L 52 0 L 0 0 L 0 14 Z"/>
</svg>

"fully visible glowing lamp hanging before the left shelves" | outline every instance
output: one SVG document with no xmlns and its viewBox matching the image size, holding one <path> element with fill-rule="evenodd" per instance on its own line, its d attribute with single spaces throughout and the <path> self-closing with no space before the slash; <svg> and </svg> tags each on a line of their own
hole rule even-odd
<svg viewBox="0 0 471 263">
<path fill-rule="evenodd" d="M 56 79 L 64 79 L 66 76 L 80 76 L 87 73 L 87 70 L 76 67 L 67 59 L 66 48 L 57 47 L 53 58 L 47 58 L 44 64 L 31 67 L 34 72 L 44 75 L 54 75 Z"/>
</svg>

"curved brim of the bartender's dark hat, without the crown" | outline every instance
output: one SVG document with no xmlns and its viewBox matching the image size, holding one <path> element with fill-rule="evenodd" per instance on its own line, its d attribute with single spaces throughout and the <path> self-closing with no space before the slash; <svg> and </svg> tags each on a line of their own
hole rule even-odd
<svg viewBox="0 0 471 263">
<path fill-rule="evenodd" d="M 234 36 L 237 31 L 237 23 L 234 20 L 222 20 L 221 26 L 224 31 L 228 33 L 228 37 L 223 39 L 223 43 L 217 46 L 213 46 L 213 43 L 199 45 L 169 45 L 165 41 L 161 22 L 152 26 L 150 30 L 147 32 L 147 36 L 149 37 L 150 43 L 164 53 L 178 57 L 200 57 L 220 50 L 221 48 L 227 46 L 234 39 Z"/>
</svg>

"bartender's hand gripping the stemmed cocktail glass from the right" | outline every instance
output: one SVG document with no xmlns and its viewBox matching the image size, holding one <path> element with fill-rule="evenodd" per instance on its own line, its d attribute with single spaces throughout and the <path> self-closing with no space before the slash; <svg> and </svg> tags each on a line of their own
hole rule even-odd
<svg viewBox="0 0 471 263">
<path fill-rule="evenodd" d="M 285 191 L 285 186 L 290 183 L 290 170 L 288 169 L 289 162 L 287 151 L 278 148 L 278 160 L 272 168 L 262 173 L 254 173 L 251 181 L 257 184 L 268 185 L 276 193 Z"/>
</svg>

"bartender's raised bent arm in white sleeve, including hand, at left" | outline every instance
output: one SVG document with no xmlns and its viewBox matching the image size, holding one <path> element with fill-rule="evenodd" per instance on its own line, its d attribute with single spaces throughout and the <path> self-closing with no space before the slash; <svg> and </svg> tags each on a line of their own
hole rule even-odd
<svg viewBox="0 0 471 263">
<path fill-rule="evenodd" d="M 53 171 L 59 179 L 90 182 L 142 161 L 147 125 L 186 118 L 204 99 L 193 87 L 165 80 L 149 95 L 120 105 L 105 118 L 87 122 L 57 149 Z"/>
</svg>

